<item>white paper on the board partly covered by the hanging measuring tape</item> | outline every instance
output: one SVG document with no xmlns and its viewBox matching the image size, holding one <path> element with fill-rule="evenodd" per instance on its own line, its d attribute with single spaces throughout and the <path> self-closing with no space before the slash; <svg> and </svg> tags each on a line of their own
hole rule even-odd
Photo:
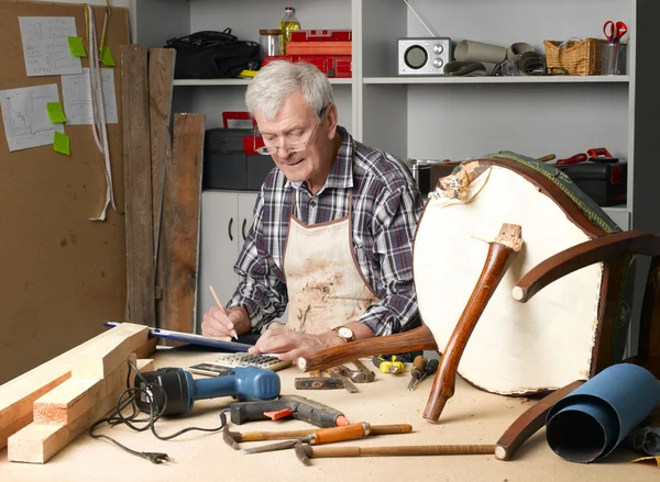
<svg viewBox="0 0 660 482">
<path fill-rule="evenodd" d="M 101 86 L 103 88 L 103 111 L 107 124 L 117 124 L 117 97 L 114 94 L 114 69 L 102 68 Z M 82 74 L 62 76 L 62 93 L 64 112 L 68 125 L 92 124 L 91 92 L 89 90 L 89 69 Z M 96 97 L 95 97 L 96 98 Z"/>
</svg>

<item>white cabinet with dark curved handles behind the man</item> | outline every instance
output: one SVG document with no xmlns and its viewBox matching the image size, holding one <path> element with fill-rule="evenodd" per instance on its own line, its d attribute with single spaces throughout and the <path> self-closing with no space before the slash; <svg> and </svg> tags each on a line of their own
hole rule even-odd
<svg viewBox="0 0 660 482">
<path fill-rule="evenodd" d="M 204 191 L 199 247 L 198 327 L 216 304 L 212 285 L 224 305 L 233 295 L 239 277 L 233 266 L 252 225 L 256 192 Z"/>
</svg>

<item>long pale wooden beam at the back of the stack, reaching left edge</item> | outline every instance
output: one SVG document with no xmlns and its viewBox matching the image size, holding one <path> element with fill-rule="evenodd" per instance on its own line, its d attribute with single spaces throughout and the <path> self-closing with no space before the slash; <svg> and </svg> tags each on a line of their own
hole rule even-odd
<svg viewBox="0 0 660 482">
<path fill-rule="evenodd" d="M 147 345 L 146 326 L 122 323 L 1 385 L 0 448 L 7 445 L 9 436 L 32 422 L 33 403 L 70 378 L 72 367 L 84 350 L 106 337 L 120 334 L 130 339 L 132 351 Z"/>
</svg>

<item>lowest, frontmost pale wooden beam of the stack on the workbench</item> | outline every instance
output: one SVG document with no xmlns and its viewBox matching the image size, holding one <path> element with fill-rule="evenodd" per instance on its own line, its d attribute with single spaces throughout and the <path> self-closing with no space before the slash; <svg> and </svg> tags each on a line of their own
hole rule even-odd
<svg viewBox="0 0 660 482">
<path fill-rule="evenodd" d="M 132 356 L 135 362 L 134 356 Z M 32 423 L 9 437 L 8 460 L 12 462 L 45 463 L 59 450 L 72 442 L 78 435 L 87 430 L 96 421 L 103 417 L 117 406 L 119 395 L 125 389 L 128 363 L 119 367 L 110 377 L 100 381 L 102 395 L 95 403 L 90 399 L 78 397 L 77 403 L 84 403 L 87 410 L 80 410 L 77 418 L 65 424 L 36 424 Z M 72 382 L 80 380 L 70 379 Z M 67 381 L 68 382 L 68 381 Z M 94 385 L 96 390 L 97 385 Z M 66 396 L 63 390 L 62 395 Z M 63 401 L 62 404 L 67 404 Z M 76 403 L 69 405 L 73 408 Z M 82 407 L 82 406 L 81 406 Z"/>
</svg>

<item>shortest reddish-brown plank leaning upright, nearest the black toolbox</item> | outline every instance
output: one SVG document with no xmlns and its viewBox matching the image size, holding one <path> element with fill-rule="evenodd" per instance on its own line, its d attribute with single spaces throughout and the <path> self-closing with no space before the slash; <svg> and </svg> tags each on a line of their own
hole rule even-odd
<svg viewBox="0 0 660 482">
<path fill-rule="evenodd" d="M 161 327 L 186 333 L 195 329 L 204 134 L 204 114 L 175 114 L 161 237 L 165 280 Z"/>
</svg>

